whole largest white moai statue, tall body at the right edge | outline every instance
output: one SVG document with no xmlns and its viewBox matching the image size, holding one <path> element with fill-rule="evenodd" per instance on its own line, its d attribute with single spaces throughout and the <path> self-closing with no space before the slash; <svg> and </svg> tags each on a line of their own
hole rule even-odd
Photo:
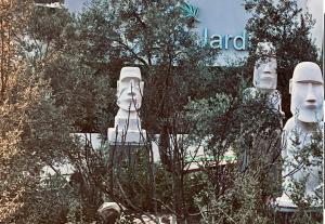
<svg viewBox="0 0 325 224">
<path fill-rule="evenodd" d="M 304 184 L 304 196 L 313 199 L 312 206 L 320 207 L 317 199 L 321 199 L 322 195 L 317 195 L 316 189 L 322 187 L 322 160 L 320 156 L 315 156 L 314 150 L 320 154 L 323 147 L 322 142 L 317 143 L 314 137 L 323 132 L 324 84 L 318 65 L 311 62 L 299 63 L 294 70 L 289 92 L 290 110 L 294 116 L 284 127 L 283 195 L 276 201 L 280 208 L 297 208 L 291 196 L 292 186 L 298 183 Z"/>
</svg>

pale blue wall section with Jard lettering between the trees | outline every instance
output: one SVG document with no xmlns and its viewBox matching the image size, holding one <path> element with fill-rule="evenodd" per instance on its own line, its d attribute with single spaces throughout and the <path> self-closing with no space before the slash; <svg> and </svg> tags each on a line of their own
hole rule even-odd
<svg viewBox="0 0 325 224">
<path fill-rule="evenodd" d="M 183 14 L 194 23 L 200 44 L 221 52 L 214 65 L 229 65 L 248 56 L 249 38 L 245 30 L 251 16 L 243 0 L 187 0 Z"/>
</svg>

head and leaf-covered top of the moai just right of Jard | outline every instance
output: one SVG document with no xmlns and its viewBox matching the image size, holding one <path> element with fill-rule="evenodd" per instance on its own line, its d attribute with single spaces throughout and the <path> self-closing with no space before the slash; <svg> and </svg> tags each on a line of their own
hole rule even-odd
<svg viewBox="0 0 325 224">
<path fill-rule="evenodd" d="M 277 85 L 277 63 L 271 42 L 259 42 L 256 51 L 259 60 L 253 67 L 253 85 L 258 89 L 275 90 Z"/>
</svg>

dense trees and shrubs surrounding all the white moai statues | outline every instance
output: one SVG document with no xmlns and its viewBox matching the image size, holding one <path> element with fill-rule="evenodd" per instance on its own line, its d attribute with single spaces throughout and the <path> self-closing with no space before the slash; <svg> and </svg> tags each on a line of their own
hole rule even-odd
<svg viewBox="0 0 325 224">
<path fill-rule="evenodd" d="M 272 207 L 281 195 L 282 115 L 263 97 L 243 104 L 242 93 L 252 79 L 256 44 L 272 41 L 290 117 L 295 65 L 318 62 L 308 37 L 313 22 L 294 0 L 244 3 L 252 15 L 249 56 L 214 67 L 220 52 L 197 44 L 195 21 L 183 16 L 181 0 L 93 0 L 80 15 L 2 1 L 0 221 L 101 223 L 96 210 L 115 201 L 125 222 L 173 214 L 178 223 L 282 223 Z M 112 151 L 121 148 L 93 148 L 70 134 L 96 132 L 106 140 L 123 66 L 141 68 L 142 126 L 150 140 L 159 134 L 159 162 L 151 144 L 117 160 Z M 209 158 L 199 172 L 187 170 L 190 145 L 202 145 Z M 230 149 L 237 162 L 224 164 Z M 248 166 L 243 151 L 249 151 Z M 58 169 L 64 164 L 73 167 L 69 179 Z M 310 203 L 301 205 L 292 223 L 320 221 L 321 213 L 308 213 Z"/>
</svg>

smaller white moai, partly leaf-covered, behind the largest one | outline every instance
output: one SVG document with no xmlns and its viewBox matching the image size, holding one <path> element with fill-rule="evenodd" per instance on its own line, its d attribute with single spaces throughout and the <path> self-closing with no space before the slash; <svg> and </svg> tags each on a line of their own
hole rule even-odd
<svg viewBox="0 0 325 224">
<path fill-rule="evenodd" d="M 256 54 L 258 60 L 253 67 L 253 87 L 244 91 L 244 101 L 264 95 L 270 108 L 274 108 L 284 115 L 281 105 L 281 93 L 277 85 L 277 63 L 275 49 L 271 42 L 259 42 Z"/>
</svg>

